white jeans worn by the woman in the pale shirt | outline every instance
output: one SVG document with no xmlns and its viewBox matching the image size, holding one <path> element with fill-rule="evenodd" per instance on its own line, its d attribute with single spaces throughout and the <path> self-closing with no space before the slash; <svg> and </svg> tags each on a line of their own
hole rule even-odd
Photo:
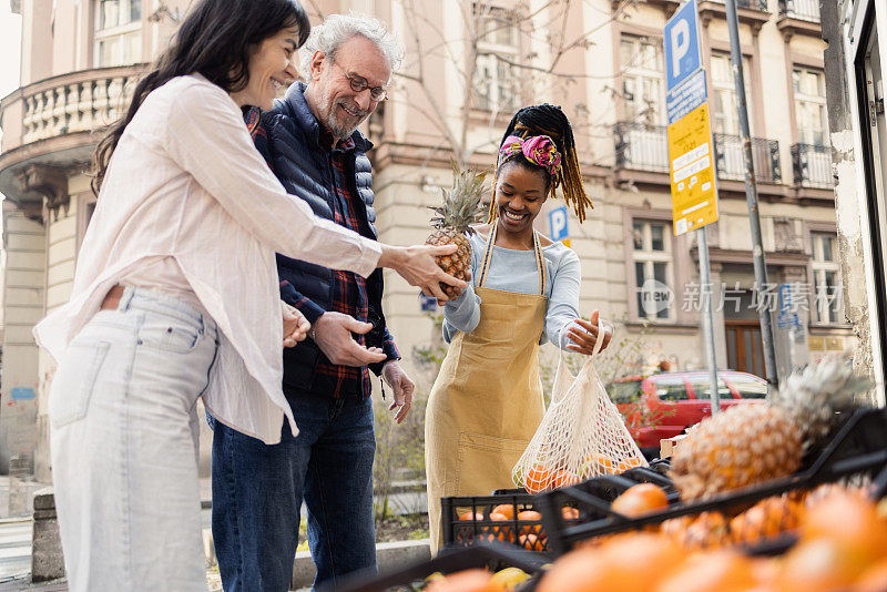
<svg viewBox="0 0 887 592">
<path fill-rule="evenodd" d="M 52 381 L 52 472 L 72 592 L 206 592 L 195 404 L 215 323 L 126 288 L 73 339 Z"/>
</svg>

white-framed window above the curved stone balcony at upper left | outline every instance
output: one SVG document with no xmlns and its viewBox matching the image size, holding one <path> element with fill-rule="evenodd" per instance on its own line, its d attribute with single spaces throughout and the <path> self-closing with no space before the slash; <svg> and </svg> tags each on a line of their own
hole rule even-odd
<svg viewBox="0 0 887 592">
<path fill-rule="evenodd" d="M 142 60 L 142 0 L 95 2 L 95 68 Z"/>
</svg>

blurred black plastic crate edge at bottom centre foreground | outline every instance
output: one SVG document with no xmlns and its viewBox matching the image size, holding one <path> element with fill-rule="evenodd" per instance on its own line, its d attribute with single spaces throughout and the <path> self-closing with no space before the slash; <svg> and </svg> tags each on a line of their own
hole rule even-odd
<svg viewBox="0 0 887 592">
<path fill-rule="evenodd" d="M 476 543 L 463 549 L 445 549 L 431 560 L 417 561 L 406 568 L 378 575 L 353 575 L 338 585 L 320 586 L 320 592 L 404 592 L 418 590 L 432 573 L 455 573 L 470 569 L 498 571 L 518 568 L 529 574 L 539 572 L 548 560 L 538 554 L 500 543 Z M 533 581 L 520 590 L 530 592 Z"/>
</svg>

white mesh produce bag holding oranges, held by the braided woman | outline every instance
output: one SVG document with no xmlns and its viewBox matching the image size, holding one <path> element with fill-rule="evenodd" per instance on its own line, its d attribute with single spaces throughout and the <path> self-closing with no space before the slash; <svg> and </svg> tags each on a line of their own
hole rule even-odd
<svg viewBox="0 0 887 592">
<path fill-rule="evenodd" d="M 598 334 L 603 335 L 601 323 Z M 601 345 L 603 339 L 598 339 L 575 377 L 560 350 L 551 405 L 511 471 L 514 483 L 530 493 L 648 466 L 594 371 Z"/>
</svg>

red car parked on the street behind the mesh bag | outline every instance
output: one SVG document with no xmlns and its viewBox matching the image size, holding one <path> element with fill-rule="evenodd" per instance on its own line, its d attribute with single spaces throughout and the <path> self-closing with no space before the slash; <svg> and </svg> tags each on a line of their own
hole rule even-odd
<svg viewBox="0 0 887 592">
<path fill-rule="evenodd" d="M 767 381 L 757 376 L 721 370 L 717 378 L 722 409 L 762 402 L 767 396 Z M 659 452 L 661 439 L 677 436 L 712 415 L 707 370 L 626 377 L 606 390 L 645 452 Z"/>
</svg>

